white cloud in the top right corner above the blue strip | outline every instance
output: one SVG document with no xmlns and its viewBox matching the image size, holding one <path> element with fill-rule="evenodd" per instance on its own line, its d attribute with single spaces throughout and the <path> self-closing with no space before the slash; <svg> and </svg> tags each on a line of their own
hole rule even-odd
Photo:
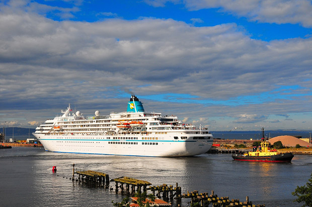
<svg viewBox="0 0 312 207">
<path fill-rule="evenodd" d="M 152 2 L 152 3 L 149 3 Z M 151 6 L 164 7 L 166 2 L 176 4 L 181 1 L 148 1 Z M 276 24 L 300 24 L 303 27 L 312 27 L 312 4 L 307 0 L 185 0 L 183 4 L 189 10 L 217 8 L 220 12 L 231 13 L 239 17 L 246 17 L 251 21 Z"/>
</svg>

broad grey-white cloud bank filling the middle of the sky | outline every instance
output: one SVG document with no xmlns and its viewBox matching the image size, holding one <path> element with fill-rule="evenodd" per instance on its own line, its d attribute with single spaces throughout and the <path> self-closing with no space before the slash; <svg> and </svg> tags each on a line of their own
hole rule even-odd
<svg viewBox="0 0 312 207">
<path fill-rule="evenodd" d="M 57 22 L 17 9 L 0 13 L 0 31 L 0 90 L 6 97 L 0 113 L 10 112 L 5 116 L 10 120 L 24 116 L 29 117 L 24 123 L 45 121 L 68 102 L 83 107 L 84 114 L 94 109 L 102 114 L 123 111 L 124 99 L 117 98 L 126 91 L 123 88 L 141 95 L 197 96 L 194 104 L 152 104 L 160 112 L 178 112 L 190 123 L 214 129 L 228 123 L 210 117 L 258 123 L 271 114 L 309 112 L 312 104 L 312 38 L 264 42 L 250 39 L 236 24 L 196 28 L 171 19 Z M 296 84 L 302 87 L 285 91 L 289 99 L 279 98 L 277 92 L 276 101 L 261 105 L 197 102 Z M 306 100 L 291 96 L 294 93 Z M 35 111 L 25 116 L 29 110 Z"/>
</svg>

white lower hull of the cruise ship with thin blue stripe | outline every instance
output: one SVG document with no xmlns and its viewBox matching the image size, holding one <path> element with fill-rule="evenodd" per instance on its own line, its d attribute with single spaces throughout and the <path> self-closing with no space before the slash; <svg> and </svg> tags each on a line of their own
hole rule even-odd
<svg viewBox="0 0 312 207">
<path fill-rule="evenodd" d="M 34 134 L 46 151 L 101 155 L 183 157 L 206 153 L 213 140 L 159 140 L 112 139 L 113 136 L 51 136 Z M 198 136 L 198 135 L 197 135 Z M 147 136 L 145 136 L 147 137 Z M 143 138 L 145 138 L 143 137 Z M 170 136 L 168 136 L 170 137 Z M 110 139 L 108 139 L 110 138 Z M 124 137 L 122 137 L 124 138 Z M 130 136 L 127 136 L 130 138 Z"/>
</svg>

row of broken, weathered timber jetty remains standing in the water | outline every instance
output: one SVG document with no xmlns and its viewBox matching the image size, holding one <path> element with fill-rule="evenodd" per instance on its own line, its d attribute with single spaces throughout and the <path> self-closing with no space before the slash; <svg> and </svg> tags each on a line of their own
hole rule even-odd
<svg viewBox="0 0 312 207">
<path fill-rule="evenodd" d="M 79 177 L 75 178 L 74 175 Z M 155 197 L 163 198 L 166 201 L 177 200 L 178 206 L 181 206 L 181 199 L 190 198 L 191 203 L 197 202 L 200 206 L 203 207 L 265 207 L 264 204 L 255 205 L 249 201 L 249 197 L 246 197 L 246 201 L 241 202 L 239 199 L 229 199 L 228 197 L 218 197 L 214 194 L 214 191 L 209 193 L 199 193 L 197 190 L 187 193 L 181 193 L 182 189 L 176 183 L 176 186 L 173 185 L 159 185 L 159 186 L 149 186 L 150 182 L 144 180 L 138 180 L 131 177 L 118 177 L 114 179 L 109 179 L 109 175 L 102 172 L 97 172 L 93 170 L 77 170 L 74 169 L 74 164 L 72 165 L 72 181 L 79 181 L 83 183 L 93 183 L 96 187 L 104 187 L 105 189 L 109 188 L 109 183 L 115 182 L 115 192 L 134 195 L 135 192 L 146 192 L 150 191 Z M 110 187 L 110 190 L 113 190 L 113 187 Z M 143 190 L 143 191 L 142 191 Z"/>
</svg>

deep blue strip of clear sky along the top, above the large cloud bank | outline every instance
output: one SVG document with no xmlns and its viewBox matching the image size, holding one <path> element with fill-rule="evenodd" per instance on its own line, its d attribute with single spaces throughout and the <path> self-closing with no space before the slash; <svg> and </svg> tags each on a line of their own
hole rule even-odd
<svg viewBox="0 0 312 207">
<path fill-rule="evenodd" d="M 46 17 L 62 21 L 68 19 L 71 21 L 96 22 L 109 18 L 120 18 L 124 20 L 137 20 L 140 18 L 158 18 L 174 19 L 182 21 L 196 27 L 210 27 L 220 24 L 236 23 L 242 31 L 246 32 L 253 39 L 264 41 L 287 39 L 287 38 L 306 38 L 312 35 L 312 29 L 302 27 L 300 22 L 297 24 L 279 24 L 252 21 L 247 17 L 237 14 L 227 13 L 222 8 L 207 8 L 191 10 L 185 7 L 182 1 L 166 2 L 163 5 L 152 6 L 144 1 L 36 1 L 39 4 L 49 5 L 51 7 L 62 7 L 73 9 L 72 16 L 62 18 L 59 11 L 46 13 Z M 154 1 L 157 2 L 157 1 Z M 165 2 L 165 1 L 164 1 Z"/>
</svg>

